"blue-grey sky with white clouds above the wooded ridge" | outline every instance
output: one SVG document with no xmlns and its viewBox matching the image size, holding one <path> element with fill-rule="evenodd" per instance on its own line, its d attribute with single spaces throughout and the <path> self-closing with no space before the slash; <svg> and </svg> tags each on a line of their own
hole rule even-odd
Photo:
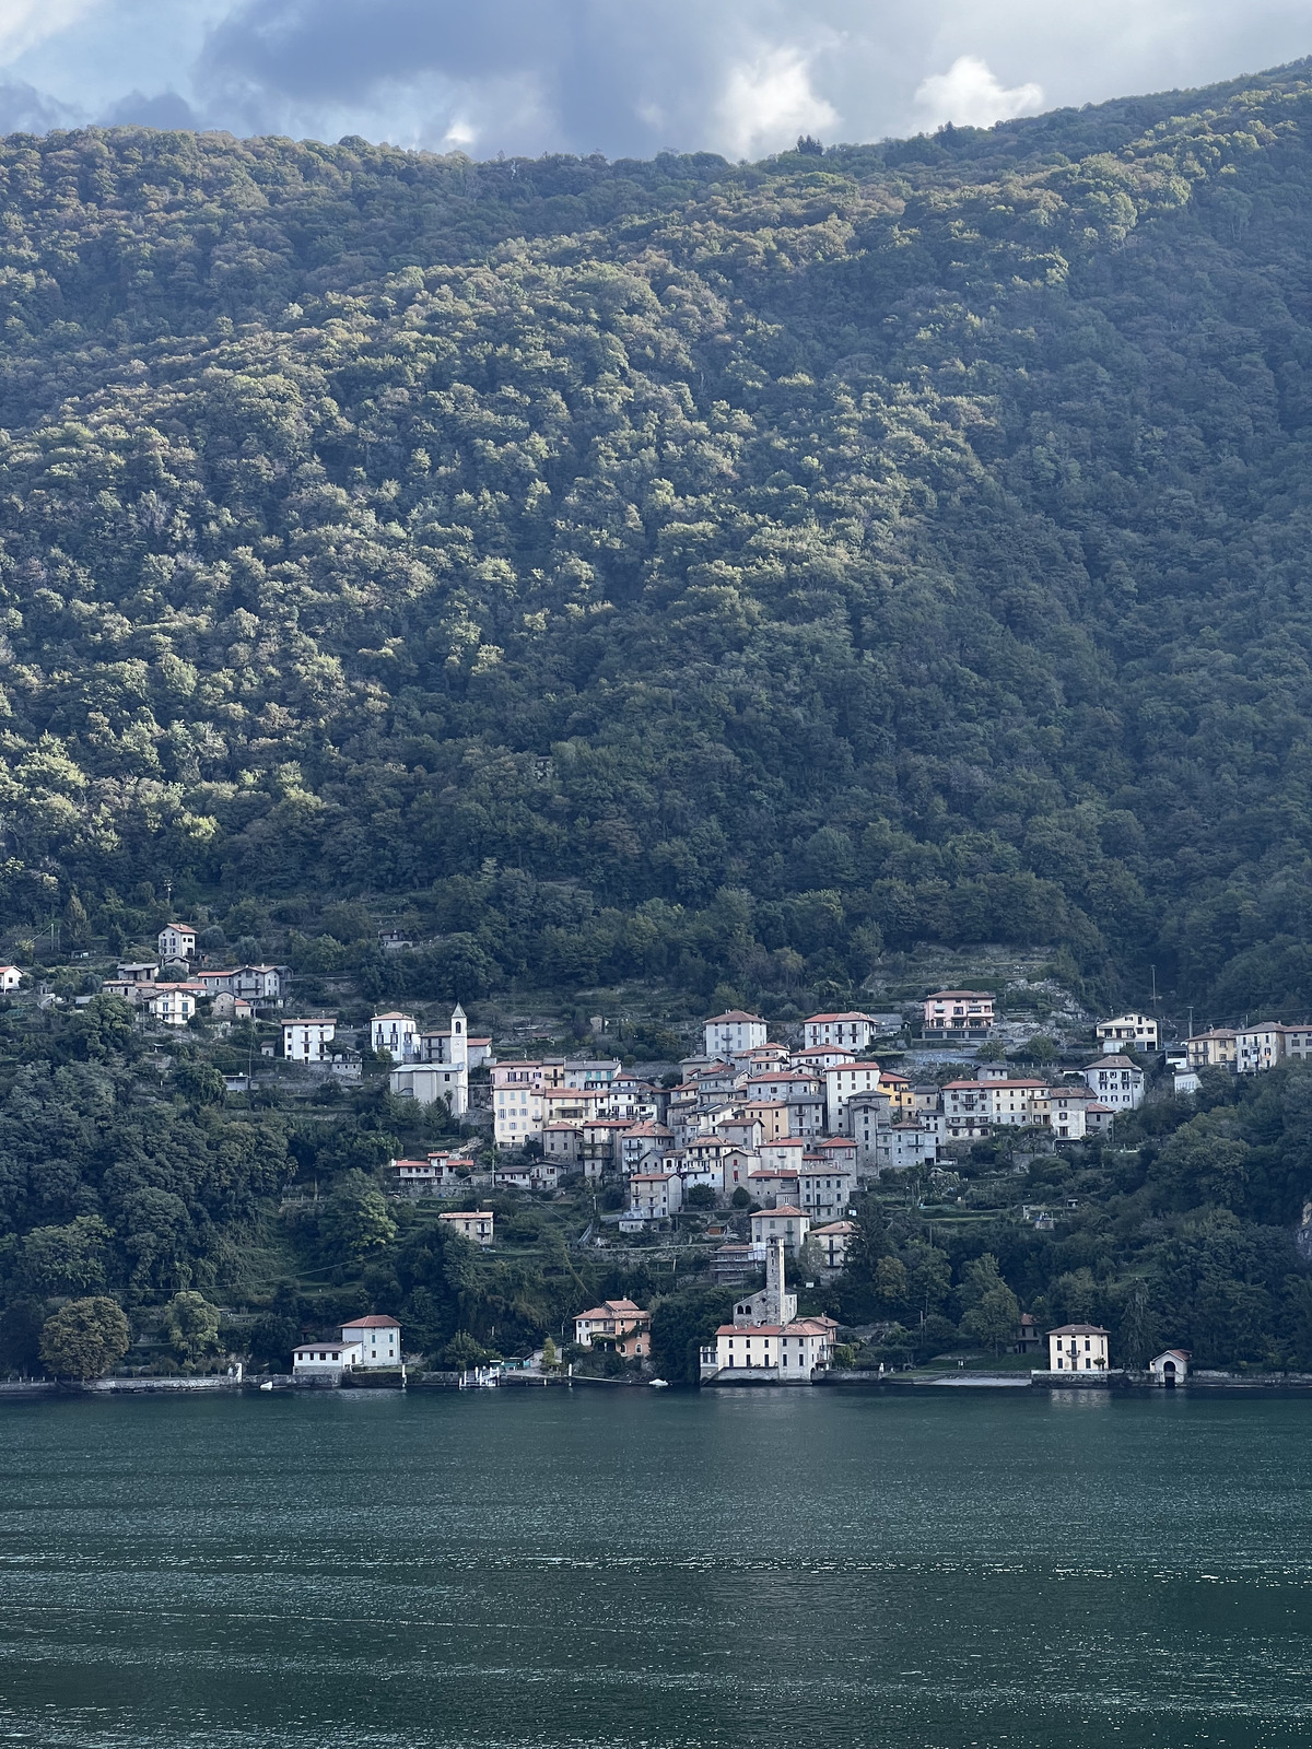
<svg viewBox="0 0 1312 1749">
<path fill-rule="evenodd" d="M 0 0 L 0 129 L 759 157 L 1312 54 L 1312 0 Z"/>
</svg>

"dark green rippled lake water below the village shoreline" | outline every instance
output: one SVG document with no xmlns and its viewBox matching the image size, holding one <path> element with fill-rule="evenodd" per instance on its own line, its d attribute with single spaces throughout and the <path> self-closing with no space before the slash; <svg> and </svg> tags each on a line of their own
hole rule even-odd
<svg viewBox="0 0 1312 1749">
<path fill-rule="evenodd" d="M 1312 1401 L 0 1404 L 0 1744 L 1312 1739 Z"/>
</svg>

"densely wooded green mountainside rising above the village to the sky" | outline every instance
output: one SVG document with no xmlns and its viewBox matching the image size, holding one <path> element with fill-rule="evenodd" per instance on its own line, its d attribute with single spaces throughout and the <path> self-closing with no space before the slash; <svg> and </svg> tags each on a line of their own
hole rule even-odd
<svg viewBox="0 0 1312 1749">
<path fill-rule="evenodd" d="M 763 164 L 0 147 L 3 902 L 1312 1006 L 1312 66 Z M 233 934 L 233 930 L 229 930 Z"/>
</svg>

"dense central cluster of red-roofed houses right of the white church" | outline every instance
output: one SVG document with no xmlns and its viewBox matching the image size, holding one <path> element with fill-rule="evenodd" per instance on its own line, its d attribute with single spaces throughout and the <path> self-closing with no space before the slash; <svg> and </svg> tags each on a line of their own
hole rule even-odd
<svg viewBox="0 0 1312 1749">
<path fill-rule="evenodd" d="M 924 1011 L 927 1028 L 969 1035 L 992 1025 L 992 997 L 980 992 L 938 992 Z M 714 1014 L 703 1051 L 684 1058 L 675 1086 L 644 1081 L 614 1058 L 497 1062 L 495 1140 L 541 1156 L 527 1168 L 530 1182 L 535 1174 L 549 1181 L 551 1167 L 623 1179 L 621 1230 L 668 1221 L 700 1188 L 710 1191 L 694 1198 L 703 1205 L 742 1191 L 738 1202 L 763 1210 L 752 1217 L 757 1261 L 778 1235 L 791 1254 L 815 1245 L 841 1266 L 841 1223 L 861 1181 L 934 1165 L 945 1146 L 997 1128 L 1083 1140 L 1144 1097 L 1144 1069 L 1125 1051 L 1062 1083 L 1001 1065 L 943 1086 L 917 1083 L 869 1056 L 880 1025 L 882 1016 L 862 1013 L 812 1014 L 789 1049 L 768 1041 L 759 1014 Z"/>
</svg>

